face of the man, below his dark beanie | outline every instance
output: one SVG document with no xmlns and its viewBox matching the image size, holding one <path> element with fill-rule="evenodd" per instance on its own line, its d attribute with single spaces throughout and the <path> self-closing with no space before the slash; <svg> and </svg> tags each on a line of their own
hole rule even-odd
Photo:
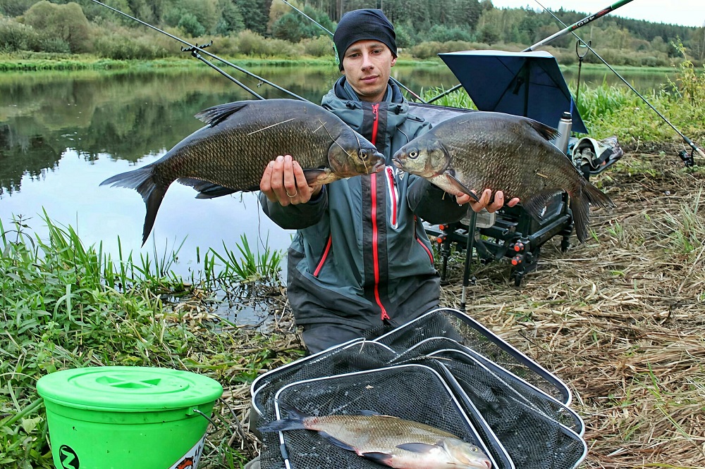
<svg viewBox="0 0 705 469">
<path fill-rule="evenodd" d="M 343 73 L 361 101 L 379 103 L 384 98 L 396 57 L 379 41 L 365 39 L 348 47 Z"/>
</svg>

